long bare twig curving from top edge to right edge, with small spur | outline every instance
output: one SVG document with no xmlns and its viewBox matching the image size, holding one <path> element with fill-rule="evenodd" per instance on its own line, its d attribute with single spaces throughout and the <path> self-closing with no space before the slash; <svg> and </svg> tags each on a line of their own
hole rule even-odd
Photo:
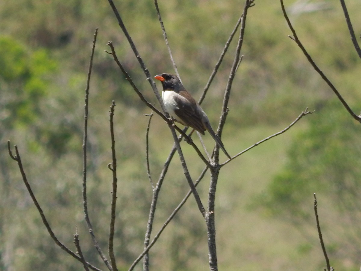
<svg viewBox="0 0 361 271">
<path fill-rule="evenodd" d="M 357 116 L 352 109 L 348 106 L 348 104 L 346 103 L 346 101 L 343 99 L 343 97 L 341 96 L 341 94 L 339 93 L 339 91 L 336 89 L 336 87 L 331 83 L 331 81 L 329 80 L 329 78 L 327 78 L 325 76 L 325 74 L 318 68 L 318 66 L 316 65 L 316 63 L 313 61 L 312 57 L 309 55 L 309 53 L 306 51 L 305 47 L 303 46 L 303 44 L 301 43 L 301 41 L 299 40 L 295 29 L 293 28 L 290 19 L 288 18 L 288 15 L 286 13 L 286 9 L 284 8 L 283 5 L 283 0 L 280 0 L 281 3 L 281 8 L 282 8 L 282 12 L 283 12 L 283 16 L 287 21 L 288 27 L 290 28 L 292 34 L 293 34 L 293 38 L 292 40 L 294 40 L 297 45 L 301 48 L 303 54 L 306 56 L 308 62 L 312 65 L 312 67 L 316 70 L 316 72 L 321 76 L 321 78 L 323 79 L 323 81 L 325 81 L 327 83 L 327 85 L 329 85 L 329 87 L 332 89 L 332 91 L 336 94 L 337 98 L 340 100 L 340 102 L 343 104 L 343 106 L 346 108 L 346 110 L 348 111 L 348 113 L 358 122 L 361 123 L 361 116 Z"/>
</svg>

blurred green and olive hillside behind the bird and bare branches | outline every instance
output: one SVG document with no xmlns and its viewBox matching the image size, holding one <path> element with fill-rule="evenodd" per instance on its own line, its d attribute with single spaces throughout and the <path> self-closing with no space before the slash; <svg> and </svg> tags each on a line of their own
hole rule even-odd
<svg viewBox="0 0 361 271">
<path fill-rule="evenodd" d="M 315 112 L 222 168 L 216 195 L 219 269 L 322 270 L 325 261 L 313 216 L 315 192 L 331 265 L 337 270 L 358 270 L 360 124 L 287 37 L 291 32 L 279 1 L 255 3 L 248 13 L 244 57 L 222 134 L 226 149 L 235 155 L 282 130 L 306 107 Z M 115 4 L 151 74 L 173 72 L 153 1 Z M 285 5 L 310 55 L 358 114 L 360 59 L 339 1 L 285 1 Z M 350 0 L 347 5 L 359 36 L 360 1 Z M 196 99 L 243 6 L 243 1 L 235 0 L 160 1 L 179 73 Z M 16 163 L 7 154 L 7 139 L 19 146 L 29 182 L 56 236 L 74 248 L 77 225 L 85 258 L 105 269 L 85 227 L 81 196 L 84 90 L 96 27 L 88 121 L 88 208 L 106 251 L 112 180 L 106 167 L 111 162 L 108 110 L 114 99 L 118 159 L 114 243 L 119 270 L 127 270 L 143 250 L 152 197 L 145 167 L 148 117 L 143 116 L 150 111 L 104 52 L 109 50 L 108 40 L 144 96 L 159 105 L 108 2 L 2 1 L 0 21 L 0 270 L 82 269 L 49 237 Z M 221 111 L 235 41 L 202 105 L 213 126 Z M 157 116 L 149 137 L 152 177 L 157 180 L 173 139 Z M 211 148 L 212 139 L 204 139 Z M 190 146 L 183 143 L 182 147 L 196 179 L 203 163 Z M 203 202 L 208 177 L 198 186 Z M 175 157 L 160 193 L 154 231 L 187 191 Z M 151 270 L 207 270 L 206 240 L 205 223 L 190 198 L 152 248 Z"/>
</svg>

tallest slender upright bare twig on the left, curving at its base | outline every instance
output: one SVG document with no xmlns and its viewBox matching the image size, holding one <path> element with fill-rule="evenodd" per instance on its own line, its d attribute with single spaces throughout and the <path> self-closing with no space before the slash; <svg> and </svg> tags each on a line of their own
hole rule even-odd
<svg viewBox="0 0 361 271">
<path fill-rule="evenodd" d="M 101 251 L 101 248 L 98 244 L 98 241 L 95 238 L 93 227 L 90 222 L 89 213 L 88 213 L 88 203 L 87 203 L 87 137 L 88 137 L 88 100 L 89 100 L 89 87 L 90 87 L 90 77 L 91 77 L 91 71 L 93 66 L 93 56 L 94 56 L 94 50 L 95 50 L 95 43 L 96 43 L 96 37 L 98 34 L 98 29 L 95 29 L 94 33 L 94 39 L 93 39 L 93 47 L 91 51 L 90 56 L 90 64 L 89 64 L 89 70 L 88 70 L 88 78 L 87 78 L 87 86 L 85 89 L 85 104 L 84 104 L 84 134 L 83 134 L 83 208 L 84 208 L 84 218 L 87 223 L 90 236 L 93 240 L 94 246 L 96 250 L 98 251 L 101 259 L 105 263 L 106 267 L 109 268 L 109 270 L 112 270 L 112 266 L 110 266 L 108 260 L 106 259 L 104 253 Z"/>
</svg>

